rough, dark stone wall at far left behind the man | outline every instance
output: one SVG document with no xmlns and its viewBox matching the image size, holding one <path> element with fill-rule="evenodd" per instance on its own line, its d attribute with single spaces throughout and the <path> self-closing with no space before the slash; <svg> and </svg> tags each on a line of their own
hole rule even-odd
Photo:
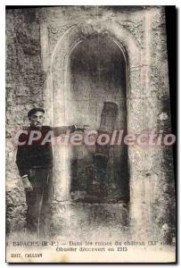
<svg viewBox="0 0 181 268">
<path fill-rule="evenodd" d="M 21 230 L 26 210 L 22 182 L 15 164 L 14 132 L 29 123 L 27 113 L 43 106 L 45 73 L 41 69 L 36 10 L 6 12 L 6 214 L 7 231 Z"/>
</svg>

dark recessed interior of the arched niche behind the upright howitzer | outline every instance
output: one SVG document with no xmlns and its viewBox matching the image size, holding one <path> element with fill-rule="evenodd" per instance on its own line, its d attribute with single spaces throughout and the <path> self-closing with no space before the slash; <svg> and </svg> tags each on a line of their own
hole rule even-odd
<svg viewBox="0 0 181 268">
<path fill-rule="evenodd" d="M 118 105 L 114 130 L 127 132 L 127 65 L 120 47 L 108 36 L 85 38 L 70 54 L 66 76 L 67 121 L 100 127 L 104 102 Z M 95 147 L 71 152 L 70 197 L 77 201 L 129 200 L 128 147 L 111 146 L 101 181 L 95 180 Z M 96 184 L 96 185 L 95 185 Z M 101 192 L 100 192 L 101 191 Z M 101 197 L 103 194 L 103 198 Z M 98 198 L 97 198 L 98 197 Z"/>
</svg>

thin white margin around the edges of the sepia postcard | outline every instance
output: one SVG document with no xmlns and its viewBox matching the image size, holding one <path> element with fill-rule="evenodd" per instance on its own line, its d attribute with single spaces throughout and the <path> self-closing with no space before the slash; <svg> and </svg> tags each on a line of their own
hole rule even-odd
<svg viewBox="0 0 181 268">
<path fill-rule="evenodd" d="M 179 0 L 161 0 L 161 1 L 156 1 L 156 0 L 150 0 L 150 1 L 143 1 L 143 0 L 137 0 L 137 1 L 133 1 L 133 0 L 91 0 L 91 1 L 87 1 L 87 0 L 77 0 L 77 1 L 72 1 L 72 0 L 27 0 L 22 1 L 22 0 L 2 0 L 0 2 L 0 37 L 1 37 L 1 42 L 0 42 L 0 81 L 1 81 L 1 88 L 0 88 L 0 122 L 1 122 L 1 127 L 0 127 L 0 172 L 1 172 L 1 178 L 0 178 L 0 190 L 1 190 L 1 194 L 0 194 L 0 215 L 1 215 L 1 225 L 0 225 L 0 264 L 1 267 L 5 267 L 7 266 L 7 264 L 5 264 L 5 5 L 177 5 L 177 8 L 180 9 L 181 6 L 181 1 Z M 181 27 L 180 27 L 180 19 L 179 19 L 179 10 L 177 13 L 177 17 L 178 17 L 178 50 L 179 50 L 179 45 L 181 44 L 180 42 L 180 37 L 181 37 Z M 179 104 L 181 104 L 181 94 L 179 94 L 179 89 L 180 89 L 180 77 L 181 77 L 181 71 L 180 71 L 180 57 L 181 54 L 178 51 L 178 73 L 177 73 L 177 78 L 178 78 L 178 83 L 177 83 L 177 92 L 178 92 L 178 125 L 177 125 L 177 131 L 178 133 L 180 133 L 181 127 L 180 127 L 180 121 L 181 121 L 181 109 L 179 108 Z M 178 139 L 178 137 L 177 137 Z M 180 149 L 181 146 L 180 144 L 178 144 L 178 152 L 180 153 Z M 178 154 L 179 156 L 179 154 Z M 180 195 L 180 170 L 179 167 L 181 166 L 181 160 L 180 157 L 178 157 L 178 164 L 177 164 L 177 168 L 178 168 L 178 174 L 177 174 L 177 186 L 179 186 L 179 189 L 177 189 L 177 196 L 179 197 Z M 178 198 L 180 201 L 180 198 Z M 180 208 L 180 202 L 178 202 L 178 215 L 180 215 L 181 212 L 181 208 Z M 178 218 L 178 222 L 177 222 L 177 229 L 178 229 L 178 239 L 180 242 L 180 233 L 181 231 L 179 230 L 179 218 Z M 181 249 L 180 249 L 180 244 L 178 245 L 178 261 L 180 260 L 180 256 L 181 256 Z M 180 262 L 179 262 L 180 263 Z M 23 267 L 26 264 L 21 264 L 21 267 Z M 41 265 L 41 264 L 40 264 Z M 63 264 L 62 264 L 63 265 Z M 37 266 L 39 267 L 39 264 L 35 264 L 34 267 Z M 53 266 L 53 264 L 48 264 L 48 266 Z M 67 266 L 67 265 L 66 265 Z M 72 264 L 70 264 L 69 266 L 74 266 Z M 82 266 L 82 265 L 81 265 Z M 94 265 L 98 266 L 98 265 Z M 115 267 L 115 265 L 110 264 L 110 267 Z M 132 266 L 133 265 L 124 265 L 121 264 L 121 266 Z M 142 265 L 143 266 L 143 265 Z M 160 267 L 160 265 L 153 265 L 154 267 Z M 167 264 L 167 267 L 171 267 L 173 265 L 171 264 Z"/>
</svg>

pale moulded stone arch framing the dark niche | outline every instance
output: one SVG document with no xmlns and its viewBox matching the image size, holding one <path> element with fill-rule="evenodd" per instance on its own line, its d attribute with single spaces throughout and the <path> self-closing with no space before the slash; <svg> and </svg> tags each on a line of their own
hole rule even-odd
<svg viewBox="0 0 181 268">
<path fill-rule="evenodd" d="M 85 38 L 90 38 L 95 34 L 109 36 L 119 46 L 127 61 L 127 107 L 128 107 L 128 132 L 140 133 L 144 129 L 143 114 L 143 88 L 144 71 L 146 66 L 143 64 L 144 53 L 141 47 L 136 46 L 136 41 L 129 31 L 119 23 L 106 22 L 71 26 L 59 38 L 54 46 L 51 60 L 50 74 L 47 84 L 52 87 L 52 111 L 53 119 L 57 125 L 71 124 L 65 113 L 65 100 L 67 99 L 67 74 L 70 54 L 78 44 Z M 61 108 L 60 108 L 61 107 Z M 50 107 L 49 110 L 51 111 Z M 62 155 L 64 155 L 62 159 Z M 56 199 L 60 201 L 70 198 L 70 166 L 67 165 L 71 153 L 65 152 L 64 148 L 55 152 L 54 179 L 56 181 Z M 144 151 L 139 147 L 128 148 L 129 159 L 129 191 L 130 191 L 130 222 L 137 228 L 139 222 L 143 223 L 141 213 L 144 203 L 142 192 L 144 180 L 138 180 L 137 168 L 143 164 Z M 61 163 L 60 163 L 61 160 Z M 59 169 L 59 166 L 61 168 Z M 64 169 L 64 170 L 63 170 Z M 65 173 L 63 173 L 65 172 Z M 62 175 L 60 176 L 60 174 Z M 66 176 L 65 176 L 66 175 Z M 139 192 L 141 195 L 139 195 Z M 58 196 L 57 196 L 58 194 Z M 135 209 L 136 208 L 136 209 Z M 138 213 L 140 211 L 140 214 Z"/>
</svg>

